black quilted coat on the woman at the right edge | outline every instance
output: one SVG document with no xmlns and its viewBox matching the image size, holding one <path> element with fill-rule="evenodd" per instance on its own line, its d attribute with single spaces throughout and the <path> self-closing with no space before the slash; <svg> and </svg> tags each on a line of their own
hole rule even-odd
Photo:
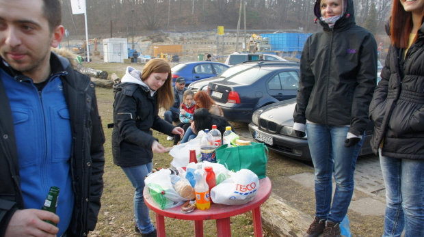
<svg viewBox="0 0 424 237">
<path fill-rule="evenodd" d="M 403 67 L 399 52 L 403 50 L 395 46 L 388 49 L 382 81 L 369 108 L 375 124 L 371 146 L 377 154 L 384 140 L 382 156 L 424 159 L 424 24 Z"/>
</svg>

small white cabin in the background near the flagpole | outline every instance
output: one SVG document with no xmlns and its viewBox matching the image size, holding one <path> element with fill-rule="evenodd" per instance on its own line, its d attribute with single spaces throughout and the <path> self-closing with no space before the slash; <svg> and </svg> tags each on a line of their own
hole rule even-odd
<svg viewBox="0 0 424 237">
<path fill-rule="evenodd" d="M 109 38 L 103 40 L 103 58 L 105 63 L 123 63 L 128 59 L 126 38 Z"/>
</svg>

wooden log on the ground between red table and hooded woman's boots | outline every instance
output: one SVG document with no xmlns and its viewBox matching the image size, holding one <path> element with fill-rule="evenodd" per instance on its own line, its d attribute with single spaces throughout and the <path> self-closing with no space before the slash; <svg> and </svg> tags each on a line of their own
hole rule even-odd
<svg viewBox="0 0 424 237">
<path fill-rule="evenodd" d="M 303 236 L 313 218 L 271 193 L 261 205 L 262 225 L 275 236 Z"/>
</svg>

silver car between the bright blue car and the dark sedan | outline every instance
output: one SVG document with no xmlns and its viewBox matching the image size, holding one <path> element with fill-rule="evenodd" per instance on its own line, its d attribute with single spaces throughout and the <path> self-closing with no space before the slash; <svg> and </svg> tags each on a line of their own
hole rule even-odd
<svg viewBox="0 0 424 237">
<path fill-rule="evenodd" d="M 252 68 L 255 65 L 256 64 L 248 64 L 248 63 L 237 64 L 235 66 L 228 68 L 224 72 L 217 74 L 216 76 L 212 76 L 212 77 L 209 77 L 209 78 L 206 78 L 206 79 L 201 79 L 199 81 L 195 81 L 194 83 L 191 83 L 188 86 L 188 88 L 193 90 L 195 93 L 200 91 L 200 90 L 207 92 L 209 83 L 226 79 L 229 76 L 233 76 L 234 74 L 237 74 L 239 72 L 243 72 L 244 70 L 248 70 L 248 68 Z"/>
</svg>

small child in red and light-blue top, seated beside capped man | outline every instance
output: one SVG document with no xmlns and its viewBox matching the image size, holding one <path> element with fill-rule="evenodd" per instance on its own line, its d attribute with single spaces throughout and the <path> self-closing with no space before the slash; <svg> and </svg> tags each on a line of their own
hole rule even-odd
<svg viewBox="0 0 424 237">
<path fill-rule="evenodd" d="M 177 127 L 187 130 L 190 127 L 191 122 L 193 122 L 193 113 L 196 110 L 196 104 L 194 103 L 194 92 L 191 89 L 187 89 L 183 95 L 183 104 L 181 104 L 180 109 L 180 121 Z M 178 144 L 180 141 L 180 135 L 174 135 L 174 145 Z"/>
</svg>

